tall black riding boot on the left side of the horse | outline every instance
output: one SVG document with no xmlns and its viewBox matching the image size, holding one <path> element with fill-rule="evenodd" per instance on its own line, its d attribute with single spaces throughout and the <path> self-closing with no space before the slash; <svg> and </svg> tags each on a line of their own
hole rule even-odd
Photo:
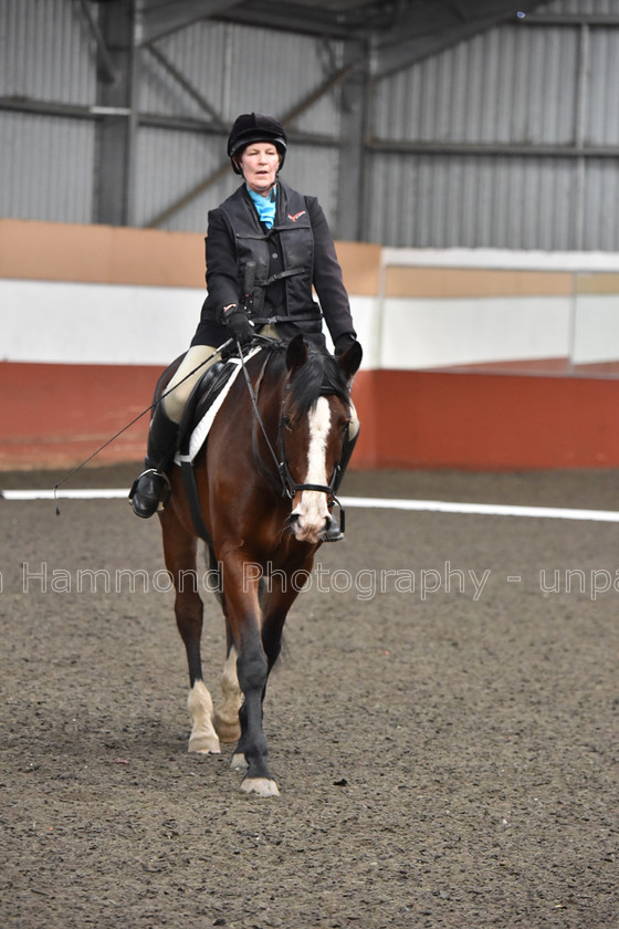
<svg viewBox="0 0 619 929">
<path fill-rule="evenodd" d="M 144 459 L 145 471 L 134 481 L 129 491 L 129 500 L 136 516 L 147 520 L 157 511 L 164 489 L 167 494 L 164 507 L 169 500 L 170 482 L 167 471 L 174 461 L 178 424 L 166 415 L 162 404 L 157 404 L 146 447 Z"/>
</svg>

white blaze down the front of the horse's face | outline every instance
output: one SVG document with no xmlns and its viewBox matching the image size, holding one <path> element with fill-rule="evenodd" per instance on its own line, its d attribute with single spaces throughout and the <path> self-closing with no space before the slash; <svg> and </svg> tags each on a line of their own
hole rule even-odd
<svg viewBox="0 0 619 929">
<path fill-rule="evenodd" d="M 326 397 L 318 397 L 316 406 L 308 414 L 310 445 L 307 448 L 307 474 L 303 483 L 327 483 L 326 452 L 331 429 L 331 407 Z M 326 493 L 304 490 L 298 505 L 293 510 L 298 516 L 295 526 L 301 541 L 316 542 L 328 516 Z"/>
</svg>

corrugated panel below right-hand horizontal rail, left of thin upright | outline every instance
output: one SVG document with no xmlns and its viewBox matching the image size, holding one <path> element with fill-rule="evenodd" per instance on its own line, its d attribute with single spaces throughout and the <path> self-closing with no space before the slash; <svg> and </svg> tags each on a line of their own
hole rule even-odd
<svg viewBox="0 0 619 929">
<path fill-rule="evenodd" d="M 375 156 L 368 239 L 415 248 L 571 249 L 574 170 L 573 159 Z"/>
</svg>

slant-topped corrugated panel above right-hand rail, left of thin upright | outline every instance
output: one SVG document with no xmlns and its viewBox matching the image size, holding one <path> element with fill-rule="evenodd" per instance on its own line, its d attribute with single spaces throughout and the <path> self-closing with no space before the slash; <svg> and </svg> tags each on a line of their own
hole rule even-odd
<svg viewBox="0 0 619 929">
<path fill-rule="evenodd" d="M 577 60 L 576 29 L 493 29 L 378 82 L 373 134 L 421 143 L 567 144 Z"/>
</svg>

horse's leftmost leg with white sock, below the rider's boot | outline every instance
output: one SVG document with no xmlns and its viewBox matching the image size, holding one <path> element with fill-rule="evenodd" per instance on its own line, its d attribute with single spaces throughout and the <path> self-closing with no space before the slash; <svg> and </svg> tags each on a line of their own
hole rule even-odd
<svg viewBox="0 0 619 929">
<path fill-rule="evenodd" d="M 202 678 L 200 638 L 202 635 L 202 601 L 198 594 L 196 570 L 196 539 L 188 533 L 171 508 L 159 514 L 164 532 L 166 567 L 176 591 L 175 614 L 180 637 L 187 651 L 189 667 L 189 696 L 187 708 L 191 719 L 189 751 L 219 754 L 219 738 L 212 723 L 211 695 Z"/>
</svg>

